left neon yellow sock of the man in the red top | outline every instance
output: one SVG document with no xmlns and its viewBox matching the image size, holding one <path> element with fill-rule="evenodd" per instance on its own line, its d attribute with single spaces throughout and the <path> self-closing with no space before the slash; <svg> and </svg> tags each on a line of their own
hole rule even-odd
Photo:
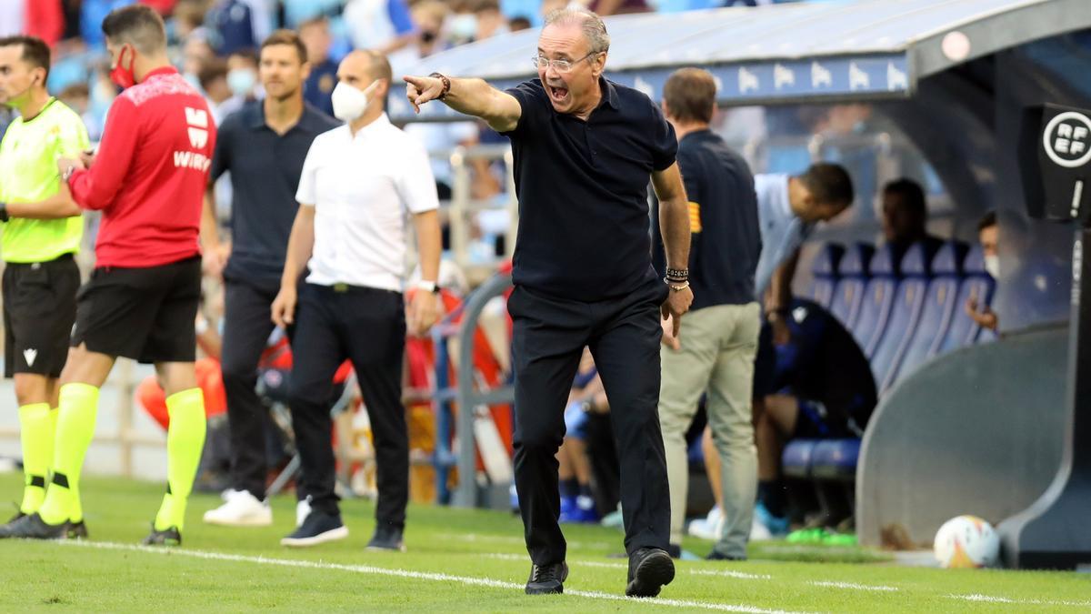
<svg viewBox="0 0 1091 614">
<path fill-rule="evenodd" d="M 98 388 L 87 383 L 65 383 L 61 387 L 57 413 L 57 438 L 53 447 L 52 484 L 38 513 L 49 524 L 70 520 L 83 512 L 77 499 L 80 471 L 91 439 L 95 436 L 98 413 Z"/>
</svg>

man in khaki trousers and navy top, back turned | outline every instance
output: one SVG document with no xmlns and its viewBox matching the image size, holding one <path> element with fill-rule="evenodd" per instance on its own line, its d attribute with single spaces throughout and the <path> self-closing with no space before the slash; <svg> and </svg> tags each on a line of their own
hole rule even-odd
<svg viewBox="0 0 1091 614">
<path fill-rule="evenodd" d="M 670 322 L 664 322 L 660 354 L 659 422 L 670 476 L 671 555 L 682 555 L 690 480 L 685 435 L 707 390 L 709 427 L 728 469 L 721 474 L 722 534 L 708 558 L 740 560 L 746 558 L 757 488 L 751 392 L 762 326 L 754 292 L 762 232 L 754 177 L 742 156 L 709 129 L 716 110 L 711 73 L 675 71 L 663 86 L 662 105 L 679 138 L 694 276 L 685 334 L 673 336 Z M 659 248 L 658 240 L 654 245 Z M 663 271 L 666 263 L 657 260 Z"/>
</svg>

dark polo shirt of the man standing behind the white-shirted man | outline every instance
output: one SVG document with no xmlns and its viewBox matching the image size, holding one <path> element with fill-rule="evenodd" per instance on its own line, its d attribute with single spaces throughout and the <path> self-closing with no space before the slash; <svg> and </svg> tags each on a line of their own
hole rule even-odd
<svg viewBox="0 0 1091 614">
<path fill-rule="evenodd" d="M 340 126 L 311 105 L 283 135 L 265 125 L 262 101 L 224 119 L 216 137 L 212 179 L 231 173 L 231 258 L 224 275 L 279 284 L 296 220 L 303 160 L 319 134 Z"/>
</svg>

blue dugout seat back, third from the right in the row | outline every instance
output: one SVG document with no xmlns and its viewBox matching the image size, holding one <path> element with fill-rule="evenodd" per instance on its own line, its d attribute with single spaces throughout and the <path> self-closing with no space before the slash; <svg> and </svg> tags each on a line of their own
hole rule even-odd
<svg viewBox="0 0 1091 614">
<path fill-rule="evenodd" d="M 895 291 L 894 305 L 886 327 L 878 333 L 879 341 L 871 354 L 872 374 L 879 393 L 887 389 L 890 371 L 901 361 L 913 330 L 921 319 L 924 295 L 928 287 L 931 257 L 923 244 L 915 244 L 906 250 L 901 259 L 901 282 Z"/>
</svg>

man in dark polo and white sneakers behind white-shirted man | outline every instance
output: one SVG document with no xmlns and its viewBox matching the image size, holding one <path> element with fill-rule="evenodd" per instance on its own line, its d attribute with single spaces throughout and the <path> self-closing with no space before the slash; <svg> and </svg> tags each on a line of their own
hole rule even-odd
<svg viewBox="0 0 1091 614">
<path fill-rule="evenodd" d="M 333 118 L 303 102 L 307 48 L 291 31 L 262 43 L 261 78 L 266 97 L 231 114 L 219 128 L 212 180 L 231 174 L 231 251 L 223 269 L 224 388 L 231 425 L 231 480 L 239 496 L 205 513 L 205 522 L 268 526 L 265 499 L 263 416 L 254 391 L 257 363 L 273 331 L 269 309 L 283 273 L 288 236 L 296 217 L 303 161 L 314 138 L 337 127 Z M 223 252 L 215 229 L 214 194 L 207 193 L 202 239 L 206 258 Z M 329 379 L 327 379 L 327 382 Z"/>
</svg>

